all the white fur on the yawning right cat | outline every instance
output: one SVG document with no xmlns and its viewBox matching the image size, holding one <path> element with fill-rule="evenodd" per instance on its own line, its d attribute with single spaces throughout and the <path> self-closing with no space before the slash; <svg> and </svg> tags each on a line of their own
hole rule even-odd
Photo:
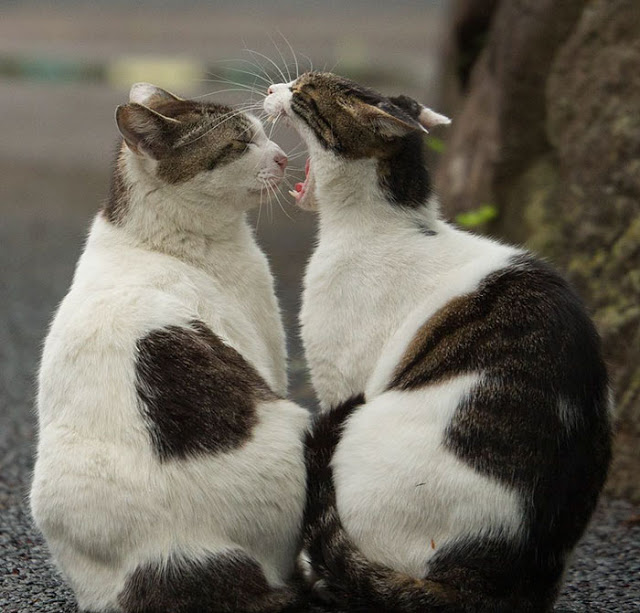
<svg viewBox="0 0 640 613">
<path fill-rule="evenodd" d="M 367 401 L 348 420 L 333 459 L 338 512 L 365 556 L 424 577 L 447 542 L 466 534 L 516 536 L 522 502 L 443 446 L 456 407 L 483 373 L 416 391 L 385 390 L 420 326 L 518 250 L 439 220 L 435 201 L 419 210 L 392 206 L 378 187 L 375 161 L 344 160 L 317 143 L 291 111 L 289 85 L 272 86 L 265 110 L 298 129 L 315 179 L 320 236 L 300 314 L 312 381 L 322 410 L 362 392 Z M 424 236 L 419 227 L 436 234 Z"/>
</svg>

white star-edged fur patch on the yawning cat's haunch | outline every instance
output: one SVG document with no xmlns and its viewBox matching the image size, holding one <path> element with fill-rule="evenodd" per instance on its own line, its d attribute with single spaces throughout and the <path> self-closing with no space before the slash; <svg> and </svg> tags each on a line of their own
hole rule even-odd
<svg viewBox="0 0 640 613">
<path fill-rule="evenodd" d="M 371 561 L 416 578 L 442 546 L 467 535 L 517 536 L 515 492 L 442 446 L 469 374 L 369 400 L 347 421 L 333 457 L 338 514 Z"/>
</svg>

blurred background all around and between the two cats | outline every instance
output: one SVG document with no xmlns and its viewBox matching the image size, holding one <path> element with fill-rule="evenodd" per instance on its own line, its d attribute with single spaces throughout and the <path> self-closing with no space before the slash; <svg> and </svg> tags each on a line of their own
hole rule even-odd
<svg viewBox="0 0 640 613">
<path fill-rule="evenodd" d="M 74 610 L 27 511 L 34 379 L 107 195 L 115 107 L 136 81 L 260 101 L 263 78 L 311 65 L 452 116 L 450 130 L 425 141 L 443 215 L 527 244 L 585 298 L 605 342 L 618 433 L 607 498 L 558 610 L 640 607 L 630 561 L 640 559 L 639 509 L 625 502 L 640 502 L 637 0 L 5 0 L 0 11 L 2 611 Z M 273 138 L 293 153 L 295 180 L 297 137 L 278 127 Z M 284 310 L 291 393 L 312 407 L 297 311 L 315 221 L 283 191 L 282 207 L 261 210 L 257 234 Z"/>
</svg>

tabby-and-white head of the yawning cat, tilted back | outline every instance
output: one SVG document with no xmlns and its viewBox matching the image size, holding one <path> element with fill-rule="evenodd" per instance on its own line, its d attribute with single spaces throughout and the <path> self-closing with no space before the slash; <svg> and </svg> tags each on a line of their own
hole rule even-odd
<svg viewBox="0 0 640 613">
<path fill-rule="evenodd" d="M 286 116 L 309 148 L 305 182 L 293 194 L 302 208 L 313 208 L 314 175 L 328 157 L 338 159 L 343 168 L 349 162 L 374 160 L 388 198 L 418 204 L 428 191 L 428 178 L 422 156 L 412 152 L 421 150 L 422 134 L 450 123 L 408 96 L 386 97 L 328 72 L 307 72 L 290 83 L 271 85 L 264 109 Z M 415 176 L 408 177 L 414 170 Z"/>
</svg>

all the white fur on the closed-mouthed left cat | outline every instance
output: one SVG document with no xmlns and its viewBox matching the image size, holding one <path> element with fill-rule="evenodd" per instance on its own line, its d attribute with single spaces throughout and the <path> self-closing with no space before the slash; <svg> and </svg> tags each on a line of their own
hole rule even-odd
<svg viewBox="0 0 640 613">
<path fill-rule="evenodd" d="M 177 187 L 127 150 L 130 215 L 96 218 L 45 342 L 31 505 L 83 609 L 118 610 L 127 574 L 169 555 L 243 549 L 272 585 L 292 571 L 307 411 L 262 403 L 238 449 L 160 463 L 134 382 L 137 339 L 198 319 L 286 394 L 273 280 L 245 219 L 276 172 L 279 148 L 260 132 L 255 151 Z"/>
</svg>

